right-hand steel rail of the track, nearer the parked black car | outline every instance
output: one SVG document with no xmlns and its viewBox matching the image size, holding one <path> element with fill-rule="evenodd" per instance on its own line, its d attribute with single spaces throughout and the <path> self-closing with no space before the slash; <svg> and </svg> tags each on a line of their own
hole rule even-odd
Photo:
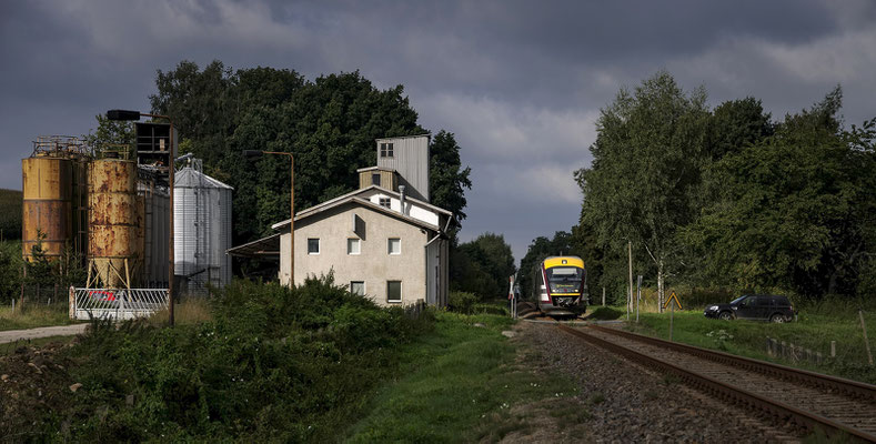
<svg viewBox="0 0 876 444">
<path fill-rule="evenodd" d="M 757 372 L 768 376 L 776 376 L 788 381 L 797 381 L 816 387 L 826 387 L 840 391 L 852 396 L 860 397 L 873 403 L 876 403 L 876 385 L 846 380 L 825 375 L 820 373 L 809 372 L 806 370 L 794 369 L 785 365 L 774 364 L 772 362 L 753 360 L 751 357 L 743 357 L 729 353 L 718 352 L 715 350 L 702 349 L 687 344 L 679 344 L 677 342 L 664 341 L 656 337 L 645 336 L 643 334 L 632 333 L 624 330 L 607 329 L 604 326 L 592 325 L 594 330 L 600 332 L 624 336 L 634 341 L 644 342 L 646 344 L 675 350 L 678 352 L 687 353 L 696 357 L 714 361 L 721 364 L 733 365 L 747 371 Z"/>
</svg>

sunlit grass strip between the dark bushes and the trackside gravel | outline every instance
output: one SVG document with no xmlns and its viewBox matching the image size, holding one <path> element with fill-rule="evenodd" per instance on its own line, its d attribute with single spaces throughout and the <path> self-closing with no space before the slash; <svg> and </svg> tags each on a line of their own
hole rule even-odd
<svg viewBox="0 0 876 444">
<path fill-rule="evenodd" d="M 555 400 L 554 417 L 582 414 L 570 403 L 572 382 L 515 362 L 516 346 L 501 335 L 511 324 L 501 315 L 439 313 L 435 330 L 404 347 L 397 380 L 379 391 L 346 440 L 495 441 L 537 426 L 514 406 L 545 398 Z"/>
</svg>

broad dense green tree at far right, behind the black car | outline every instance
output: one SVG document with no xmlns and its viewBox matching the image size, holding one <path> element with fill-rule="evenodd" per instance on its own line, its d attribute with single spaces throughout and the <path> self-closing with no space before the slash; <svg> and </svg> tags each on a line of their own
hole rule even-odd
<svg viewBox="0 0 876 444">
<path fill-rule="evenodd" d="M 706 188 L 717 199 L 685 230 L 711 283 L 854 294 L 876 246 L 874 134 L 872 121 L 844 131 L 840 105 L 837 88 L 716 163 Z"/>
</svg>

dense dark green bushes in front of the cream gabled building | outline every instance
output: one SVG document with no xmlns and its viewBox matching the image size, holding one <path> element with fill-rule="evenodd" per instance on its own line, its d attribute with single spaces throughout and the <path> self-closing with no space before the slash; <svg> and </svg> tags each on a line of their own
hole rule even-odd
<svg viewBox="0 0 876 444">
<path fill-rule="evenodd" d="M 325 441 L 429 317 L 380 309 L 331 276 L 293 290 L 234 282 L 212 309 L 197 325 L 97 325 L 72 352 L 83 386 L 70 436 Z"/>
</svg>

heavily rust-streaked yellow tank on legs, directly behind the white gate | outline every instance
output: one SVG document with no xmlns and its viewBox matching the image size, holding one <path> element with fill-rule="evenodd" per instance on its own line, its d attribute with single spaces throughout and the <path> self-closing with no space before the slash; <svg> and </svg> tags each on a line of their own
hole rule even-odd
<svg viewBox="0 0 876 444">
<path fill-rule="evenodd" d="M 112 289 L 133 285 L 142 258 L 137 163 L 121 154 L 125 153 L 103 153 L 88 172 L 89 271 Z"/>
</svg>

